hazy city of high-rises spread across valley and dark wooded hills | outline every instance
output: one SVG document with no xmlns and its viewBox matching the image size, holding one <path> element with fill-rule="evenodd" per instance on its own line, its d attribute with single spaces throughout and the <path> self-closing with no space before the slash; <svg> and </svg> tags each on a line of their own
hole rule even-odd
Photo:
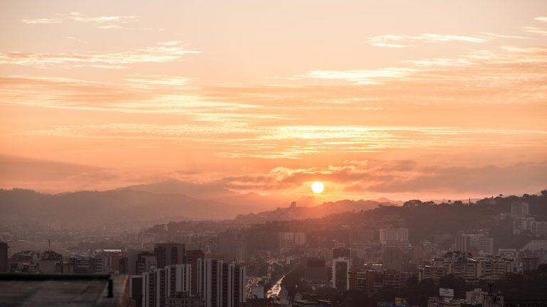
<svg viewBox="0 0 547 307">
<path fill-rule="evenodd" d="M 547 190 L 467 203 L 409 200 L 302 220 L 168 222 L 120 235 L 4 224 L 0 269 L 126 275 L 133 306 L 541 306 L 546 201 Z M 278 210 L 298 209 L 293 202 Z M 43 249 L 19 249 L 31 241 Z"/>
</svg>

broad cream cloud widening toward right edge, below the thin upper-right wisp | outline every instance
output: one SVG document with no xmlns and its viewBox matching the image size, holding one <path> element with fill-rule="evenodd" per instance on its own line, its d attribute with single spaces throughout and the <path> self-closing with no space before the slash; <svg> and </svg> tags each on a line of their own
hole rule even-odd
<svg viewBox="0 0 547 307">
<path fill-rule="evenodd" d="M 401 64 L 402 67 L 399 68 L 375 70 L 313 70 L 301 77 L 342 80 L 354 85 L 384 85 L 383 90 L 390 88 L 388 85 L 396 85 L 407 93 L 415 92 L 412 86 L 424 90 L 422 85 L 426 84 L 430 90 L 440 90 L 439 87 L 431 85 L 438 86 L 441 82 L 444 86 L 459 89 L 459 92 L 463 92 L 465 87 L 497 87 L 511 82 L 513 86 L 517 83 L 533 85 L 539 93 L 546 86 L 541 85 L 541 82 L 547 80 L 547 75 L 543 73 L 543 68 L 547 65 L 547 53 L 543 47 L 505 46 L 498 50 L 473 51 L 458 58 L 406 60 Z M 469 84 L 469 80 L 474 80 L 474 86 Z M 380 95 L 383 96 L 385 95 Z M 425 92 L 423 97 L 427 97 Z M 375 98 L 379 99 L 376 95 Z"/>
</svg>

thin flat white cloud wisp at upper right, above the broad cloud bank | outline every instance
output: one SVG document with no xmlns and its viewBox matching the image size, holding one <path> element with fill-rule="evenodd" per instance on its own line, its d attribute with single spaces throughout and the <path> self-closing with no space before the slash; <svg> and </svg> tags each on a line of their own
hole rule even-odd
<svg viewBox="0 0 547 307">
<path fill-rule="evenodd" d="M 377 47 L 390 48 L 407 48 L 415 47 L 417 43 L 447 43 L 447 42 L 464 42 L 464 43 L 486 43 L 501 38 L 518 38 L 526 39 L 523 36 L 504 36 L 496 33 L 479 33 L 474 36 L 459 36 L 451 34 L 420 34 L 417 36 L 400 36 L 400 35 L 385 35 L 373 36 L 368 38 L 370 45 Z"/>
</svg>

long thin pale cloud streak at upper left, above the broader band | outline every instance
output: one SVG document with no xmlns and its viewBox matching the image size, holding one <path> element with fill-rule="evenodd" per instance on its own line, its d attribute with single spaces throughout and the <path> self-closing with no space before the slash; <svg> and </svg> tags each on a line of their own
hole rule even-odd
<svg viewBox="0 0 547 307">
<path fill-rule="evenodd" d="M 63 65 L 68 68 L 95 67 L 122 69 L 135 63 L 166 63 L 180 60 L 184 55 L 201 53 L 188 50 L 184 45 L 162 45 L 127 50 L 120 53 L 0 53 L 0 64 L 48 67 Z"/>
</svg>

